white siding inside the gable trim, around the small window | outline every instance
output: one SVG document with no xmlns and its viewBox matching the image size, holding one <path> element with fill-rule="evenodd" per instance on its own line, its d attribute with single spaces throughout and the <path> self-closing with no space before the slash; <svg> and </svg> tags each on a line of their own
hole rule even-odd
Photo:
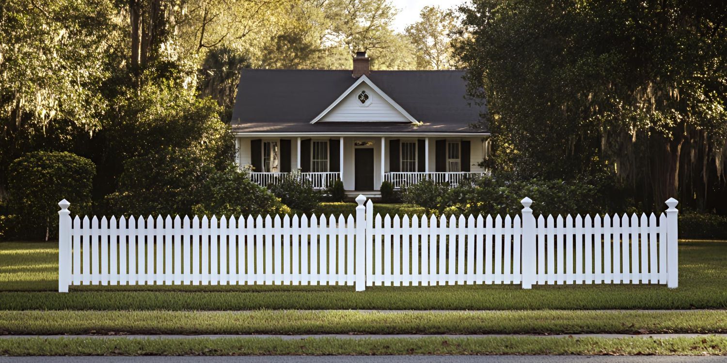
<svg viewBox="0 0 727 363">
<path fill-rule="evenodd" d="M 370 97 L 368 106 L 362 106 L 358 101 L 358 94 L 364 90 Z M 331 121 L 411 122 L 365 83 L 361 83 L 356 89 L 353 89 L 318 122 Z"/>
</svg>

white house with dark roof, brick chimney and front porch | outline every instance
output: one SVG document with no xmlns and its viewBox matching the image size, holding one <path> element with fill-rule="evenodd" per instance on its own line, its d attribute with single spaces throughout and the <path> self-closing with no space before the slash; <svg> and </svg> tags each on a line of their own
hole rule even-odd
<svg viewBox="0 0 727 363">
<path fill-rule="evenodd" d="M 424 178 L 479 176 L 489 131 L 484 106 L 466 97 L 461 70 L 243 70 L 233 109 L 239 166 L 266 185 L 300 170 L 315 187 L 341 179 L 377 195 Z"/>
</svg>

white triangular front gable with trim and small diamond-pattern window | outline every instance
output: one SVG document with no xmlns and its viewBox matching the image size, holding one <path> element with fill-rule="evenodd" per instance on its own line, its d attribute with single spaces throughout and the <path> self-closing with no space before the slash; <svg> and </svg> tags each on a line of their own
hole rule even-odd
<svg viewBox="0 0 727 363">
<path fill-rule="evenodd" d="M 366 76 L 361 76 L 310 123 L 394 122 L 419 124 Z"/>
</svg>

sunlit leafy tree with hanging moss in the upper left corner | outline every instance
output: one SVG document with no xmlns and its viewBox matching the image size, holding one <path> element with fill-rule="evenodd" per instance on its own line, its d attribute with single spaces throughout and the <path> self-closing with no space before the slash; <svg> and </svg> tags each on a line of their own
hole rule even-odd
<svg viewBox="0 0 727 363">
<path fill-rule="evenodd" d="M 0 5 L 0 199 L 24 152 L 69 150 L 100 128 L 107 54 L 118 24 L 108 0 Z"/>
</svg>

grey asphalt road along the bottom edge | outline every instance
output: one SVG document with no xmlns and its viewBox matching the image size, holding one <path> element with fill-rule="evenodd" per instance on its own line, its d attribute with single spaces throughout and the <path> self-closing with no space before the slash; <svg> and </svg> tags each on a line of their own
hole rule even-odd
<svg viewBox="0 0 727 363">
<path fill-rule="evenodd" d="M 27 356 L 0 363 L 713 363 L 723 356 Z"/>
</svg>

